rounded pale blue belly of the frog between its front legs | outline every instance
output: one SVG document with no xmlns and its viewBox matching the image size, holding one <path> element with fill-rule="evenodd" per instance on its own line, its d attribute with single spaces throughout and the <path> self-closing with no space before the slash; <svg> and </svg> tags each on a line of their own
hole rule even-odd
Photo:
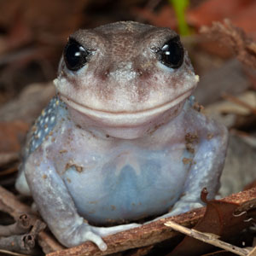
<svg viewBox="0 0 256 256">
<path fill-rule="evenodd" d="M 93 172 L 70 168 L 63 176 L 79 213 L 96 224 L 133 220 L 167 212 L 183 191 L 187 166 L 182 158 L 129 158 Z"/>
</svg>

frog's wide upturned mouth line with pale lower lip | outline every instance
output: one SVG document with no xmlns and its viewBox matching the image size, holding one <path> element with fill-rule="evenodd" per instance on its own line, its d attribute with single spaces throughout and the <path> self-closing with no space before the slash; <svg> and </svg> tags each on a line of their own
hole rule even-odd
<svg viewBox="0 0 256 256">
<path fill-rule="evenodd" d="M 192 90 L 187 90 L 183 92 L 180 96 L 177 96 L 171 102 L 166 102 L 161 105 L 158 105 L 154 108 L 148 108 L 137 112 L 108 112 L 104 110 L 97 110 L 94 108 L 89 108 L 88 106 L 84 106 L 81 103 L 74 102 L 68 96 L 61 94 L 61 100 L 67 103 L 71 108 L 78 110 L 80 113 L 84 113 L 92 118 L 98 119 L 109 119 L 112 123 L 124 123 L 124 120 L 129 123 L 137 123 L 139 119 L 142 121 L 148 119 L 152 116 L 156 116 L 158 113 L 163 113 L 166 110 L 177 106 L 180 102 L 183 102 L 186 98 L 191 95 Z"/>
</svg>

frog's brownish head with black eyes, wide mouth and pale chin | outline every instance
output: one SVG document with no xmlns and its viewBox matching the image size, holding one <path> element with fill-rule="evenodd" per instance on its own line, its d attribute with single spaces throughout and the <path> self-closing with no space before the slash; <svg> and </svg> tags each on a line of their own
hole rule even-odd
<svg viewBox="0 0 256 256">
<path fill-rule="evenodd" d="M 127 21 L 74 32 L 55 87 L 79 125 L 135 138 L 176 117 L 197 81 L 176 32 Z"/>
</svg>

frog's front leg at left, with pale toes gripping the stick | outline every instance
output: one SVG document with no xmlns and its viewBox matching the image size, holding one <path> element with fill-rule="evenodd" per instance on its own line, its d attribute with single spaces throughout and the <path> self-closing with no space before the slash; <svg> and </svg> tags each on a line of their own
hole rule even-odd
<svg viewBox="0 0 256 256">
<path fill-rule="evenodd" d="M 139 224 L 124 224 L 101 228 L 84 222 L 54 165 L 49 160 L 42 160 L 42 155 L 35 154 L 35 152 L 31 154 L 26 161 L 26 180 L 38 211 L 61 244 L 73 247 L 84 241 L 93 241 L 103 251 L 107 249 L 107 245 L 102 240 L 102 236 L 139 226 Z"/>
</svg>

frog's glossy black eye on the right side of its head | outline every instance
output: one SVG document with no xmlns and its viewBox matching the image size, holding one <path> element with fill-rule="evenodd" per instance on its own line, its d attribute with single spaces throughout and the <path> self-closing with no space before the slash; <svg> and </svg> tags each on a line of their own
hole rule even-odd
<svg viewBox="0 0 256 256">
<path fill-rule="evenodd" d="M 183 57 L 184 49 L 178 36 L 168 40 L 160 49 L 160 61 L 167 67 L 181 67 Z"/>
</svg>

